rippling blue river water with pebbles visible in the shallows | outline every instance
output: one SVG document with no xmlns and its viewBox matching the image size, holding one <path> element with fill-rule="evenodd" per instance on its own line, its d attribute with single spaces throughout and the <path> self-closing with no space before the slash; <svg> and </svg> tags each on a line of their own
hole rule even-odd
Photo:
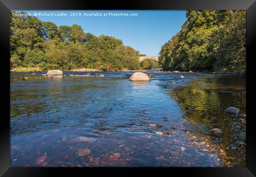
<svg viewBox="0 0 256 177">
<path fill-rule="evenodd" d="M 146 72 L 149 82 L 129 81 L 133 72 L 69 76 L 85 73 L 48 79 L 46 72 L 11 72 L 11 166 L 246 165 L 245 144 L 231 149 L 239 134 L 232 125 L 246 114 L 245 77 L 155 70 Z M 230 106 L 242 115 L 224 112 Z"/>
</svg>

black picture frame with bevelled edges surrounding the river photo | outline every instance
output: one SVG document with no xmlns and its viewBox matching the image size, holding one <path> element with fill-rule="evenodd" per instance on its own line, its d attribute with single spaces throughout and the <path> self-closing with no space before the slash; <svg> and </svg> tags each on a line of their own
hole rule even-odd
<svg viewBox="0 0 256 177">
<path fill-rule="evenodd" d="M 119 9 L 119 10 L 189 10 L 189 9 L 226 9 L 226 10 L 247 10 L 247 160 L 246 167 L 239 168 L 15 168 L 10 167 L 10 123 L 9 123 L 9 11 L 14 9 L 20 10 L 37 10 L 37 9 Z M 255 0 L 130 0 L 130 1 L 96 1 L 96 0 L 1 0 L 0 1 L 0 49 L 3 64 L 2 68 L 2 101 L 4 109 L 0 123 L 0 175 L 3 177 L 12 176 L 51 176 L 54 172 L 58 175 L 77 176 L 76 172 L 82 175 L 88 175 L 93 172 L 95 176 L 99 172 L 104 172 L 104 175 L 134 175 L 135 171 L 143 170 L 144 174 L 163 175 L 163 171 L 168 175 L 173 175 L 176 172 L 178 175 L 189 176 L 204 176 L 204 177 L 251 177 L 256 175 L 256 131 L 254 128 L 253 110 L 250 109 L 249 103 L 253 103 L 255 96 L 255 85 L 248 87 L 250 82 L 253 83 L 253 72 L 255 60 L 254 50 L 256 43 L 256 2 Z M 249 95 L 248 95 L 249 94 Z M 121 173 L 123 172 L 123 173 Z"/>
</svg>

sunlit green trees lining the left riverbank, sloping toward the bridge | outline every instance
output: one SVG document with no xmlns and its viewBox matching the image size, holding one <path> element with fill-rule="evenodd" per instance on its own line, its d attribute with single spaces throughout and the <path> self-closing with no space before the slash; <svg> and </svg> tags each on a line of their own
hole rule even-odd
<svg viewBox="0 0 256 177">
<path fill-rule="evenodd" d="M 120 39 L 83 31 L 77 24 L 56 26 L 32 16 L 10 12 L 10 69 L 139 70 L 139 51 Z M 24 13 L 24 12 L 22 12 Z"/>
</svg>

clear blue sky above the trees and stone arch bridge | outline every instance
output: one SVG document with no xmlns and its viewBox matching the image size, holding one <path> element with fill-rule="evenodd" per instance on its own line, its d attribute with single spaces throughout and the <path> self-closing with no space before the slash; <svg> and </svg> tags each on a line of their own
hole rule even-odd
<svg viewBox="0 0 256 177">
<path fill-rule="evenodd" d="M 20 12 L 21 10 L 14 10 Z M 76 10 L 23 10 L 27 13 L 68 13 L 68 16 L 38 16 L 57 26 L 81 25 L 85 32 L 93 35 L 108 35 L 121 39 L 124 45 L 131 46 L 142 54 L 158 55 L 161 46 L 170 40 L 186 21 L 184 10 L 140 10 L 140 11 L 76 11 Z M 70 13 L 137 13 L 138 16 L 70 16 Z"/>
</svg>

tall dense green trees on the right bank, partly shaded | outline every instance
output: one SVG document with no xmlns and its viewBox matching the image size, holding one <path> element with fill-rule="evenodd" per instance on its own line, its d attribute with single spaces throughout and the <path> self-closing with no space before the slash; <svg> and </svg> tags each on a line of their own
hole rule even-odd
<svg viewBox="0 0 256 177">
<path fill-rule="evenodd" d="M 246 11 L 188 10 L 160 51 L 164 70 L 246 72 Z"/>
</svg>

